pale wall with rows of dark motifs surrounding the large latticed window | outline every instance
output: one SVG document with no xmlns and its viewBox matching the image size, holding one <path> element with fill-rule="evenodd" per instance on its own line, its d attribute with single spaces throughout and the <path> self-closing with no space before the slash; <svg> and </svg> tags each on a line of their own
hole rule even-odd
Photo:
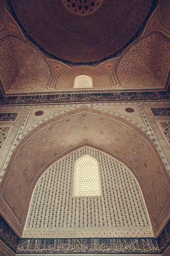
<svg viewBox="0 0 170 256">
<path fill-rule="evenodd" d="M 101 197 L 73 197 L 74 164 L 90 155 L 99 162 Z M 62 158 L 34 189 L 26 228 L 147 227 L 142 195 L 132 173 L 119 161 L 85 147 Z"/>
</svg>

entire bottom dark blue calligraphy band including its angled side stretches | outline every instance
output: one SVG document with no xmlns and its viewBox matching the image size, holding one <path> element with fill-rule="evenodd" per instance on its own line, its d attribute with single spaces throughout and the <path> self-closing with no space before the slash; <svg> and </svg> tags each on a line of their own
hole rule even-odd
<svg viewBox="0 0 170 256">
<path fill-rule="evenodd" d="M 0 238 L 15 253 L 138 253 L 161 254 L 170 244 L 170 221 L 155 238 L 19 239 L 0 217 Z"/>
</svg>

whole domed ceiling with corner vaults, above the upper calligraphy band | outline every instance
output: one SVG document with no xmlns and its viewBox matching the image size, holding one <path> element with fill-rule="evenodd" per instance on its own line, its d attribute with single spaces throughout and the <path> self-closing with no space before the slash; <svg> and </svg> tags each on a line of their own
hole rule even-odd
<svg viewBox="0 0 170 256">
<path fill-rule="evenodd" d="M 5 96 L 167 90 L 169 1 L 74 2 L 0 0 Z M 82 75 L 93 88 L 73 88 Z"/>
</svg>

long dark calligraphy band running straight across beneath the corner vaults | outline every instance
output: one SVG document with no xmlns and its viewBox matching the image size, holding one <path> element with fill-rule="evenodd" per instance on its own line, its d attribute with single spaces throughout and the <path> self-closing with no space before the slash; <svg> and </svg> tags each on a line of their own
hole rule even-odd
<svg viewBox="0 0 170 256">
<path fill-rule="evenodd" d="M 0 93 L 0 105 L 65 104 L 91 102 L 146 102 L 170 100 L 167 91 L 112 92 L 112 93 L 68 93 L 51 95 L 3 96 Z"/>
</svg>

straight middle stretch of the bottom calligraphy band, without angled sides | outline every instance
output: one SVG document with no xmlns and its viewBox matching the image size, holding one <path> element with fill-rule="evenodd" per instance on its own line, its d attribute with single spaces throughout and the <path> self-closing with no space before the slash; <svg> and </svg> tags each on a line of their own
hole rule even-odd
<svg viewBox="0 0 170 256">
<path fill-rule="evenodd" d="M 16 253 L 149 253 L 159 254 L 156 239 L 20 239 Z"/>
</svg>

